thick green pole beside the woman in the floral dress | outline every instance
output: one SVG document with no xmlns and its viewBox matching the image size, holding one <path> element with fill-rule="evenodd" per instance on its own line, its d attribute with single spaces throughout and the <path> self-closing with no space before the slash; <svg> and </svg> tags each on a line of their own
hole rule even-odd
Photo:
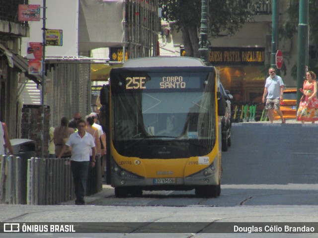
<svg viewBox="0 0 318 238">
<path fill-rule="evenodd" d="M 297 47 L 297 89 L 303 87 L 303 82 L 308 66 L 308 12 L 309 0 L 300 0 L 299 2 L 299 24 L 298 24 L 298 47 Z M 297 110 L 302 93 L 297 90 Z"/>
</svg>

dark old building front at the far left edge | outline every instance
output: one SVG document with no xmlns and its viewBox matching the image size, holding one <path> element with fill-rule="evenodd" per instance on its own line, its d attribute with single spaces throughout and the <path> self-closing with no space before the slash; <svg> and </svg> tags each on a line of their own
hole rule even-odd
<svg viewBox="0 0 318 238">
<path fill-rule="evenodd" d="M 28 4 L 28 0 L 0 0 L 0 121 L 7 123 L 9 135 L 19 134 L 19 117 L 22 104 L 19 100 L 19 82 L 29 76 L 27 63 L 20 55 L 21 38 L 29 34 L 27 22 L 18 21 L 18 4 Z"/>
</svg>

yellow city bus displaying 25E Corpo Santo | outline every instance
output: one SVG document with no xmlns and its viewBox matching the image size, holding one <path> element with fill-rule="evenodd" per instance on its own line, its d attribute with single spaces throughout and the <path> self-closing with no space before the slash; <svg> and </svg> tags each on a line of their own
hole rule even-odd
<svg viewBox="0 0 318 238">
<path fill-rule="evenodd" d="M 111 69 L 101 104 L 109 110 L 108 173 L 116 197 L 192 189 L 220 195 L 225 101 L 216 74 L 189 57 L 132 59 Z"/>
</svg>

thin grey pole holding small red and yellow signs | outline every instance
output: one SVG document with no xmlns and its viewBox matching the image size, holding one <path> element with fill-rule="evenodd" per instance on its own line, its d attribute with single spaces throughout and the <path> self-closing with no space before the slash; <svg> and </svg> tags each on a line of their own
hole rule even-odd
<svg viewBox="0 0 318 238">
<path fill-rule="evenodd" d="M 42 130 L 41 130 L 41 158 L 44 159 L 44 91 L 45 91 L 45 24 L 46 24 L 46 0 L 43 0 L 43 41 L 42 41 L 42 82 L 41 82 L 41 104 L 42 104 Z"/>
</svg>

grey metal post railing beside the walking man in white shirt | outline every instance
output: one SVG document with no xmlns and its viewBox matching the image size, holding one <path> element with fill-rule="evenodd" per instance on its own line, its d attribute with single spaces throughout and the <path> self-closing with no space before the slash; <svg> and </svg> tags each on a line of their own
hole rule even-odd
<svg viewBox="0 0 318 238">
<path fill-rule="evenodd" d="M 55 205 L 75 198 L 70 158 L 0 156 L 0 203 Z M 86 196 L 102 189 L 101 163 L 89 171 Z"/>
</svg>

